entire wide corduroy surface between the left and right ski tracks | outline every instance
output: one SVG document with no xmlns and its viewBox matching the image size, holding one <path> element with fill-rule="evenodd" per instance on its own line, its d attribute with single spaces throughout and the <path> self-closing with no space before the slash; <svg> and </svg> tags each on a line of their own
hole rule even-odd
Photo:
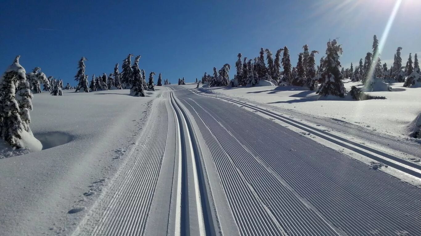
<svg viewBox="0 0 421 236">
<path fill-rule="evenodd" d="M 235 105 L 175 95 L 205 138 L 242 235 L 421 235 L 420 189 Z"/>
</svg>

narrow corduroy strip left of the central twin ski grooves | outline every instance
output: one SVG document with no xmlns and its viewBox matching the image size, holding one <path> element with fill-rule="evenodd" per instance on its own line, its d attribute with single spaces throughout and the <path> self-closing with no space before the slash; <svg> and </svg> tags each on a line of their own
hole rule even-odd
<svg viewBox="0 0 421 236">
<path fill-rule="evenodd" d="M 147 140 L 139 150 L 136 163 L 126 175 L 91 235 L 144 233 L 165 151 L 168 132 L 165 101 L 158 103 L 158 109 L 153 115 L 155 122 L 144 136 Z"/>
</svg>

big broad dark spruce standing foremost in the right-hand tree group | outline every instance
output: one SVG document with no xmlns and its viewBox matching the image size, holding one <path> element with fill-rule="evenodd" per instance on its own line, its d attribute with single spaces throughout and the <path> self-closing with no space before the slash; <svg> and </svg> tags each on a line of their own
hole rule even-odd
<svg viewBox="0 0 421 236">
<path fill-rule="evenodd" d="M 344 82 L 342 82 L 342 74 L 339 71 L 341 63 L 339 56 L 342 54 L 342 47 L 338 45 L 336 39 L 328 41 L 326 48 L 326 57 L 323 61 L 323 71 L 319 75 L 320 86 L 316 93 L 320 96 L 335 95 L 338 97 L 345 96 Z"/>
</svg>

